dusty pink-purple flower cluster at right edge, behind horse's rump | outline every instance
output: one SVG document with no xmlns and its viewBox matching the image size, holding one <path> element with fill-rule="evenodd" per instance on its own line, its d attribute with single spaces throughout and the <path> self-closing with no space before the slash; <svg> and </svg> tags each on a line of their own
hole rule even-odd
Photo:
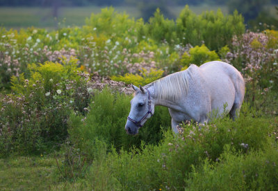
<svg viewBox="0 0 278 191">
<path fill-rule="evenodd" d="M 265 33 L 248 32 L 241 37 L 234 37 L 233 49 L 227 53 L 225 61 L 243 73 L 245 82 L 257 84 L 263 74 L 277 70 L 275 63 L 278 60 L 278 53 L 277 50 L 268 48 L 270 40 Z"/>
</svg>

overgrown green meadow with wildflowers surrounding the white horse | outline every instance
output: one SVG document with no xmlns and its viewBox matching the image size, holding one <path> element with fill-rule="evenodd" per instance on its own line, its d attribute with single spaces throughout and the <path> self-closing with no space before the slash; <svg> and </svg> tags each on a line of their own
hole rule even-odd
<svg viewBox="0 0 278 191">
<path fill-rule="evenodd" d="M 0 8 L 0 190 L 277 190 L 278 30 L 220 8 L 147 22 L 130 7 L 61 8 L 58 26 L 50 8 Z M 213 60 L 245 79 L 236 120 L 213 111 L 173 134 L 158 106 L 126 134 L 130 84 Z"/>
</svg>

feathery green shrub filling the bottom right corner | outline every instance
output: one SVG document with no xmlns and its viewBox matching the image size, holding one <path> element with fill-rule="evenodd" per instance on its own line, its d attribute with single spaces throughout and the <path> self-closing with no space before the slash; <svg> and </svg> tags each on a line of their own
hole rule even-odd
<svg viewBox="0 0 278 191">
<path fill-rule="evenodd" d="M 226 147 L 219 161 L 193 168 L 187 190 L 275 190 L 278 186 L 277 147 L 245 156 Z"/>
</svg>

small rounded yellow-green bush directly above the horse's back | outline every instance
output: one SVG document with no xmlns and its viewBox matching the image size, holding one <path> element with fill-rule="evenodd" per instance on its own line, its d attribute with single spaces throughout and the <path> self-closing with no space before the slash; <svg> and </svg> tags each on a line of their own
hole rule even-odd
<svg viewBox="0 0 278 191">
<path fill-rule="evenodd" d="M 181 56 L 181 64 L 183 66 L 189 66 L 189 64 L 200 66 L 214 60 L 220 60 L 217 53 L 215 53 L 215 51 L 209 51 L 204 44 L 202 46 L 190 48 L 188 53 L 185 52 Z"/>
</svg>

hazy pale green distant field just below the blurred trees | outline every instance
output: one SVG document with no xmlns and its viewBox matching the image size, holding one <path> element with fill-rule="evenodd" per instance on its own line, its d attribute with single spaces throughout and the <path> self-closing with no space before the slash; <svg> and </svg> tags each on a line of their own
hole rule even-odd
<svg viewBox="0 0 278 191">
<path fill-rule="evenodd" d="M 61 26 L 83 26 L 85 18 L 90 17 L 91 13 L 101 12 L 101 8 L 97 6 L 61 8 L 58 21 Z M 226 7 L 218 6 L 190 6 L 190 9 L 197 14 L 205 10 L 218 10 L 227 13 Z M 172 7 L 171 12 L 176 17 L 183 9 L 183 6 Z M 126 14 L 136 19 L 140 18 L 140 10 L 135 7 L 115 7 L 117 12 L 126 12 Z M 51 8 L 0 8 L 0 26 L 6 28 L 28 28 L 31 26 L 38 28 L 54 28 L 56 21 L 51 17 Z"/>
</svg>

